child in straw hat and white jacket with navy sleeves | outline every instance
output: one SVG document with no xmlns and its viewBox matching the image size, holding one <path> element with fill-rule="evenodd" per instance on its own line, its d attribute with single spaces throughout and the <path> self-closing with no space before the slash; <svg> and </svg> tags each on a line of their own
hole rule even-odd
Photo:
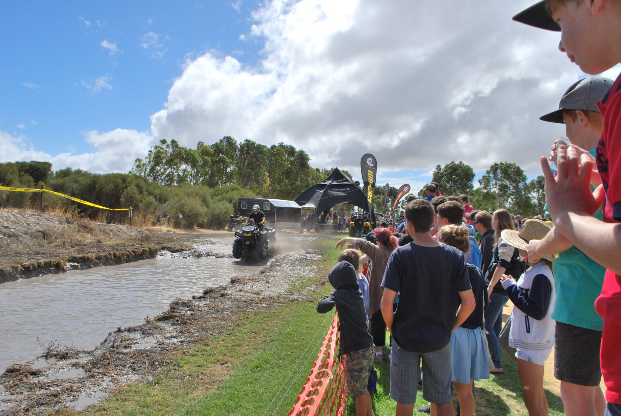
<svg viewBox="0 0 621 416">
<path fill-rule="evenodd" d="M 526 255 L 528 241 L 540 240 L 551 226 L 545 221 L 527 220 L 520 231 L 505 229 L 502 239 Z M 502 275 L 502 287 L 515 307 L 511 313 L 509 345 L 515 348 L 517 372 L 524 391 L 524 404 L 530 415 L 547 415 L 548 400 L 543 391 L 543 366 L 554 346 L 555 321 L 552 256 L 533 260 L 520 279 Z"/>
</svg>

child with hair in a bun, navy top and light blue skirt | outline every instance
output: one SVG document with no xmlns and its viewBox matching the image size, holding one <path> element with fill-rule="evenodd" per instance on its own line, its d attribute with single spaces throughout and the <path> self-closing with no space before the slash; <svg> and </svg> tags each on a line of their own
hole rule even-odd
<svg viewBox="0 0 621 416">
<path fill-rule="evenodd" d="M 467 253 L 470 234 L 463 225 L 445 225 L 438 231 L 438 241 Z M 483 310 L 487 307 L 487 284 L 481 270 L 466 264 L 476 307 L 451 337 L 451 381 L 460 400 L 460 415 L 474 416 L 473 380 L 489 379 L 487 348 L 483 335 Z"/>
</svg>

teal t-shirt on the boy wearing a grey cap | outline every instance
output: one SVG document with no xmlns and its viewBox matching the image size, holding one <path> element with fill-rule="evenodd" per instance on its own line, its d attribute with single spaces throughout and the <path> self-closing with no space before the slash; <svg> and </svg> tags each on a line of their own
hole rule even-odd
<svg viewBox="0 0 621 416">
<path fill-rule="evenodd" d="M 595 157 L 595 150 L 591 150 Z M 602 220 L 602 208 L 594 215 Z M 602 331 L 604 320 L 595 311 L 595 300 L 602 292 L 605 267 L 592 261 L 576 246 L 558 254 L 552 262 L 556 300 L 551 317 L 569 325 Z"/>
</svg>

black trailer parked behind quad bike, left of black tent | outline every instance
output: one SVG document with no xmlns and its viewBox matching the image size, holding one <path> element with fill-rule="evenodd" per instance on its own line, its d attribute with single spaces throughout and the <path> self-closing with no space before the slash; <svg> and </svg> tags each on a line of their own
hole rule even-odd
<svg viewBox="0 0 621 416">
<path fill-rule="evenodd" d="M 239 198 L 237 200 L 237 213 L 248 216 L 252 213 L 252 206 L 255 204 L 265 213 L 266 226 L 299 229 L 302 221 L 302 207 L 297 205 L 295 201 Z"/>
</svg>

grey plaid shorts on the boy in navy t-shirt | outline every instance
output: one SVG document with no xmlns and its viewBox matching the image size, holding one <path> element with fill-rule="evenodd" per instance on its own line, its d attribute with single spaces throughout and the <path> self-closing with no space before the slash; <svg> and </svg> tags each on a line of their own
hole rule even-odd
<svg viewBox="0 0 621 416">
<path fill-rule="evenodd" d="M 423 399 L 433 404 L 451 402 L 451 344 L 432 353 L 412 353 L 392 338 L 390 361 L 390 397 L 397 403 L 416 402 L 423 362 Z"/>
</svg>

